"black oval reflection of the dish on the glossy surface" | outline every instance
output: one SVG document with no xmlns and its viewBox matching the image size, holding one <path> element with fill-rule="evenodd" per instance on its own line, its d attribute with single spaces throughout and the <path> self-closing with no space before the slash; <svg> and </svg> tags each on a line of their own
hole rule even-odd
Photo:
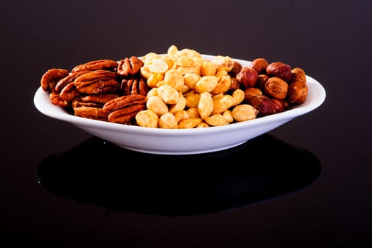
<svg viewBox="0 0 372 248">
<path fill-rule="evenodd" d="M 43 159 L 37 174 L 48 191 L 79 203 L 198 215 L 291 193 L 314 181 L 320 167 L 310 152 L 268 134 L 221 152 L 177 156 L 142 154 L 92 137 Z"/>
</svg>

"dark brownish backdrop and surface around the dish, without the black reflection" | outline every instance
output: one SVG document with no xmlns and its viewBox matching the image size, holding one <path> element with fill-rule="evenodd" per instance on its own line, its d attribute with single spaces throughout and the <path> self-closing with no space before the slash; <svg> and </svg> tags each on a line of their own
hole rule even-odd
<svg viewBox="0 0 372 248">
<path fill-rule="evenodd" d="M 1 1 L 1 241 L 69 247 L 371 244 L 371 3 Z M 91 137 L 35 109 L 41 75 L 52 67 L 71 69 L 89 60 L 162 53 L 169 45 L 244 60 L 266 57 L 303 67 L 317 79 L 327 92 L 325 103 L 270 133 L 319 159 L 315 181 L 268 201 L 186 216 L 150 214 L 151 205 L 147 212 L 115 212 L 38 184 L 37 170 L 45 158 Z M 285 156 L 278 158 L 277 167 L 286 164 Z M 242 167 L 252 166 L 252 161 L 260 166 L 259 159 L 239 157 Z M 133 169 L 126 158 L 121 163 Z M 263 157 L 262 163 L 272 169 L 275 161 Z M 305 162 L 297 163 L 300 167 Z M 152 164 L 155 176 L 162 166 Z M 168 179 L 188 169 L 177 171 L 177 166 L 175 162 L 168 171 Z M 193 180 L 198 170 L 187 175 Z"/>
</svg>

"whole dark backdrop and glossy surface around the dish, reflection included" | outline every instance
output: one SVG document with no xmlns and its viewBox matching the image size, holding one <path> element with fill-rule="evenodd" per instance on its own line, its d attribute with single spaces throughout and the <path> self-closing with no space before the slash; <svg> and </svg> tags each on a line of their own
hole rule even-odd
<svg viewBox="0 0 372 248">
<path fill-rule="evenodd" d="M 371 3 L 1 1 L 0 245 L 371 246 Z M 33 105 L 47 69 L 170 45 L 303 67 L 326 100 L 180 157 L 123 150 Z"/>
</svg>

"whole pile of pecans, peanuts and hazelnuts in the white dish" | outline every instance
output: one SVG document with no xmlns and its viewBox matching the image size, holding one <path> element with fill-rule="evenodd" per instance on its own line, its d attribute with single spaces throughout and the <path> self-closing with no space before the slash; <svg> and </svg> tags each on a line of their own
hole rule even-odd
<svg viewBox="0 0 372 248">
<path fill-rule="evenodd" d="M 207 60 L 171 45 L 123 60 L 94 60 L 40 80 L 50 101 L 72 114 L 149 128 L 202 128 L 280 113 L 303 103 L 303 69 L 264 58 L 249 66 L 229 56 Z"/>
</svg>

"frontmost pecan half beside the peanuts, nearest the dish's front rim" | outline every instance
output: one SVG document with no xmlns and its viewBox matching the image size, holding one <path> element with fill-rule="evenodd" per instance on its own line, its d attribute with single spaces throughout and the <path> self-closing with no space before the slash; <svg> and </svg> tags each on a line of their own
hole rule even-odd
<svg viewBox="0 0 372 248">
<path fill-rule="evenodd" d="M 103 105 L 103 112 L 108 114 L 108 121 L 131 124 L 138 112 L 145 110 L 147 97 L 139 94 L 120 96 Z"/>
</svg>

